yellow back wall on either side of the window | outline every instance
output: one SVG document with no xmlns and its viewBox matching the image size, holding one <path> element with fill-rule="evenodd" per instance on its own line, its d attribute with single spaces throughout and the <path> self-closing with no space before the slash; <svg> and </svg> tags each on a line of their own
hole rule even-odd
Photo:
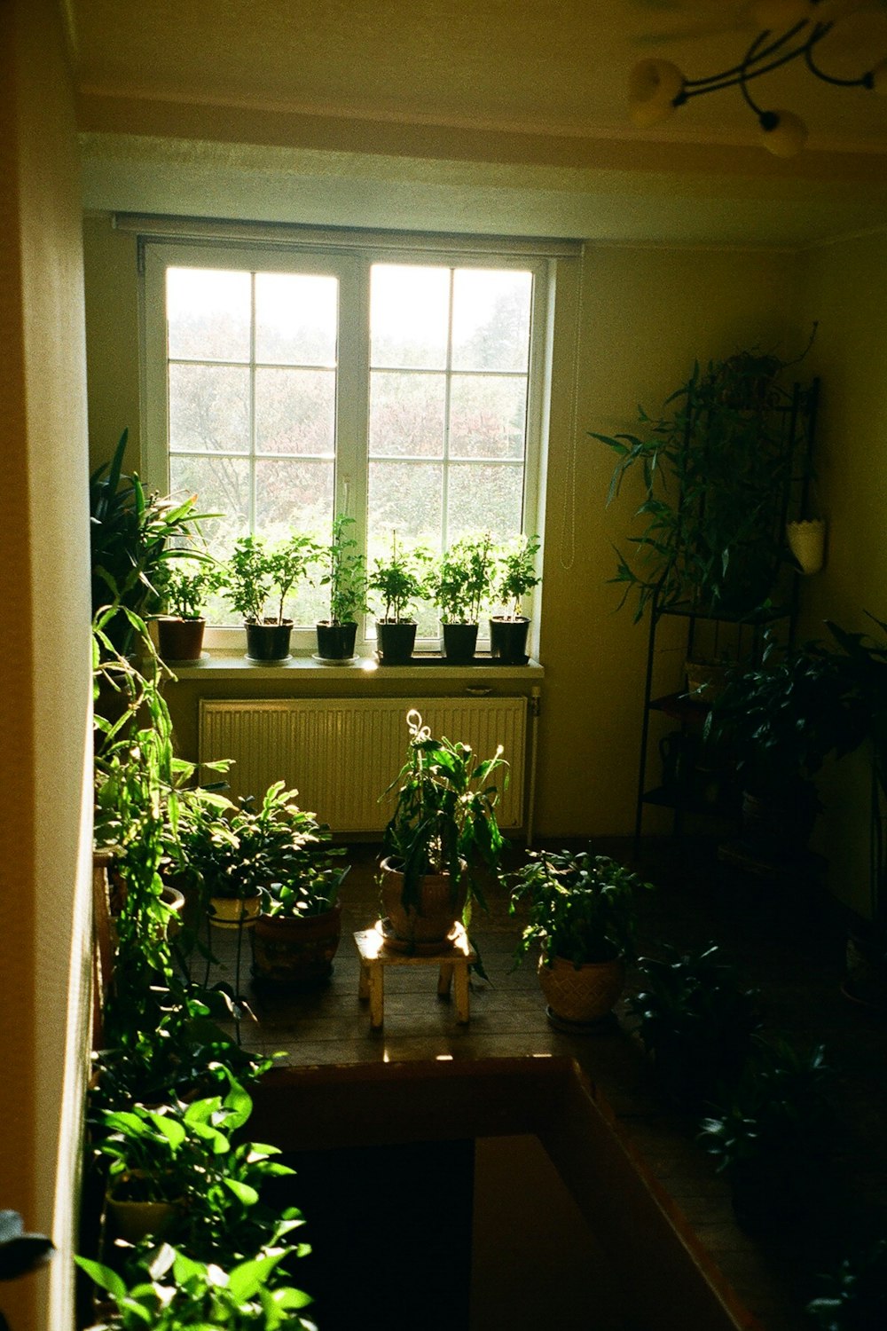
<svg viewBox="0 0 887 1331">
<path fill-rule="evenodd" d="M 475 225 L 481 224 L 479 217 Z M 138 421 L 136 245 L 96 217 L 85 224 L 85 254 L 89 421 L 97 459 L 108 455 L 124 426 L 136 434 Z M 541 836 L 625 835 L 634 823 L 646 635 L 632 624 L 629 611 L 614 614 L 618 594 L 606 584 L 610 543 L 629 530 L 632 506 L 626 496 L 605 508 L 612 457 L 586 431 L 633 425 L 636 405 L 658 407 L 697 357 L 729 355 L 757 342 L 789 354 L 806 341 L 803 325 L 787 313 L 797 302 L 791 254 L 589 245 L 581 280 L 577 266 L 561 264 L 555 333 L 540 644 L 547 669 L 536 809 Z M 578 303 L 573 494 L 568 476 Z M 138 466 L 137 447 L 129 466 Z M 564 512 L 573 504 L 570 562 Z M 678 651 L 674 660 L 677 683 Z M 231 693 L 237 689 L 233 684 Z"/>
</svg>

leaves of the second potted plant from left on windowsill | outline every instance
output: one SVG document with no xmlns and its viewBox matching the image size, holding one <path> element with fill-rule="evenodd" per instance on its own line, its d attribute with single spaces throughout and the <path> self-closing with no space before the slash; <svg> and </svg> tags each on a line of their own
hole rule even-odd
<svg viewBox="0 0 887 1331">
<path fill-rule="evenodd" d="M 315 542 L 298 532 L 275 544 L 263 536 L 239 536 L 219 567 L 219 590 L 247 624 L 283 624 L 286 598 L 297 582 L 307 579 L 318 554 Z M 274 614 L 269 614 L 271 598 Z"/>
</svg>

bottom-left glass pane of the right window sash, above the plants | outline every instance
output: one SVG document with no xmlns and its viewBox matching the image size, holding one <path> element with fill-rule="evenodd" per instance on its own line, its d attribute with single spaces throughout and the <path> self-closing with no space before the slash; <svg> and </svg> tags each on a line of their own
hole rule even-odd
<svg viewBox="0 0 887 1331">
<path fill-rule="evenodd" d="M 443 467 L 434 462 L 371 462 L 367 503 L 370 555 L 387 554 L 391 532 L 440 548 Z"/>
</svg>

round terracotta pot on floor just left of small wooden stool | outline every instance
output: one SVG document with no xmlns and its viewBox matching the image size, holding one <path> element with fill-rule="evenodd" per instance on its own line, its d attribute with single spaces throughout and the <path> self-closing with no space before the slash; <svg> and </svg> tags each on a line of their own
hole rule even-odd
<svg viewBox="0 0 887 1331">
<path fill-rule="evenodd" d="M 314 989 L 332 974 L 342 937 L 342 906 L 317 916 L 261 914 L 253 929 L 253 978 L 263 984 Z"/>
</svg>

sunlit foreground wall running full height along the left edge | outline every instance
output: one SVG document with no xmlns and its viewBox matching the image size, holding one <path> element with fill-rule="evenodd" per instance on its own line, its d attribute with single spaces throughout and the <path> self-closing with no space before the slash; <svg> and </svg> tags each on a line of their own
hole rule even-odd
<svg viewBox="0 0 887 1331">
<path fill-rule="evenodd" d="M 56 1259 L 9 1326 L 72 1320 L 90 882 L 85 349 L 73 97 L 57 7 L 0 7 L 0 1206 Z"/>
</svg>

